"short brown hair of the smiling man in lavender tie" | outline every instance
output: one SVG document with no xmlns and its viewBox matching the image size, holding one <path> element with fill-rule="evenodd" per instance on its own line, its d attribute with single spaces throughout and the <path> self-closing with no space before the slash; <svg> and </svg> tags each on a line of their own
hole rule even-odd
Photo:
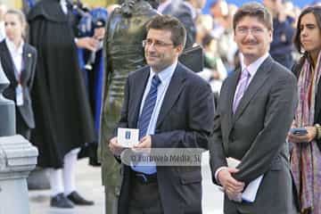
<svg viewBox="0 0 321 214">
<path fill-rule="evenodd" d="M 273 29 L 273 18 L 268 9 L 263 5 L 255 2 L 243 4 L 233 17 L 233 28 L 236 28 L 238 22 L 243 20 L 244 17 L 255 17 L 261 22 L 267 29 Z"/>
</svg>

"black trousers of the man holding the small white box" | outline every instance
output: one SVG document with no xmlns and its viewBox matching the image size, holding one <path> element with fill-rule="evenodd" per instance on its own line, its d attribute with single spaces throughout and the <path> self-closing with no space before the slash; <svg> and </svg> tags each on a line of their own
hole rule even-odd
<svg viewBox="0 0 321 214">
<path fill-rule="evenodd" d="M 131 177 L 128 214 L 163 214 L 157 180 L 144 183 L 134 172 Z"/>
</svg>

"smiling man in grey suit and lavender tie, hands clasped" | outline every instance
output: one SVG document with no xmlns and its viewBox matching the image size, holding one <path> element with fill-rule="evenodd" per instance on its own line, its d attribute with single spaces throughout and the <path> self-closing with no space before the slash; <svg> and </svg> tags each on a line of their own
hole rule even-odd
<svg viewBox="0 0 321 214">
<path fill-rule="evenodd" d="M 224 82 L 210 145 L 213 181 L 225 191 L 226 214 L 297 213 L 286 136 L 297 105 L 295 77 L 268 54 L 272 17 L 258 3 L 235 13 L 241 68 Z M 226 158 L 241 161 L 236 168 Z M 263 176 L 254 202 L 242 193 Z"/>
</svg>

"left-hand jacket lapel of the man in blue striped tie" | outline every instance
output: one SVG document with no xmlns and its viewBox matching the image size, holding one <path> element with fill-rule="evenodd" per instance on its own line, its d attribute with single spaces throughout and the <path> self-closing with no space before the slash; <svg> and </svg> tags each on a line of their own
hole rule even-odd
<svg viewBox="0 0 321 214">
<path fill-rule="evenodd" d="M 142 76 L 138 75 L 135 79 L 135 86 L 134 87 L 134 100 L 133 100 L 133 115 L 134 115 L 134 119 L 133 119 L 133 123 L 132 126 L 136 127 L 137 126 L 137 121 L 138 121 L 138 116 L 139 116 L 139 110 L 140 110 L 140 106 L 143 100 L 143 95 L 144 95 L 144 89 L 145 86 L 147 85 L 147 81 L 150 75 L 150 67 L 145 67 L 144 70 L 142 70 Z"/>
</svg>

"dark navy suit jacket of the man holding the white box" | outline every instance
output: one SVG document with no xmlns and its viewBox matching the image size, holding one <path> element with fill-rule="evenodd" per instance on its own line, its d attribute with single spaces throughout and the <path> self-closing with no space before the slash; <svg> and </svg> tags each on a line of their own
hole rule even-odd
<svg viewBox="0 0 321 214">
<path fill-rule="evenodd" d="M 149 67 L 128 76 L 119 127 L 137 128 L 139 108 Z M 213 124 L 210 86 L 178 63 L 161 105 L 152 148 L 207 148 Z M 165 214 L 202 213 L 201 166 L 157 166 L 157 180 Z M 128 213 L 130 169 L 122 166 L 119 213 Z"/>
</svg>

